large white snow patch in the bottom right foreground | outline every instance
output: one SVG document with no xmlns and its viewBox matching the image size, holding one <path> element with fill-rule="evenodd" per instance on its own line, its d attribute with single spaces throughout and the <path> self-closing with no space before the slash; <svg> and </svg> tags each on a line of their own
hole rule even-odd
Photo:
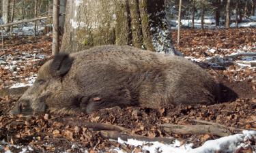
<svg viewBox="0 0 256 153">
<path fill-rule="evenodd" d="M 255 141 L 256 131 L 243 131 L 242 134 L 229 135 L 227 137 L 221 137 L 215 140 L 205 141 L 203 146 L 193 149 L 193 144 L 185 144 L 180 146 L 180 141 L 175 141 L 174 144 L 163 144 L 160 142 L 146 142 L 137 141 L 135 139 L 128 139 L 123 141 L 119 139 L 118 142 L 122 145 L 129 145 L 140 147 L 143 152 L 162 152 L 162 153 L 215 153 L 215 152 L 236 152 L 240 148 L 253 148 L 254 152 L 256 146 L 251 146 L 250 141 Z M 124 153 L 121 148 L 115 148 L 113 151 L 118 153 Z"/>
</svg>

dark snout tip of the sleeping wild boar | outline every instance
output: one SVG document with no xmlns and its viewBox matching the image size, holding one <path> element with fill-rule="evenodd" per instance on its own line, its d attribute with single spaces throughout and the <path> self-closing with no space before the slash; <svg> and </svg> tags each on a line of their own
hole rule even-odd
<svg viewBox="0 0 256 153">
<path fill-rule="evenodd" d="M 15 107 L 10 111 L 12 115 L 31 115 L 33 114 L 33 109 L 30 105 L 30 101 L 28 99 L 20 99 Z"/>
</svg>

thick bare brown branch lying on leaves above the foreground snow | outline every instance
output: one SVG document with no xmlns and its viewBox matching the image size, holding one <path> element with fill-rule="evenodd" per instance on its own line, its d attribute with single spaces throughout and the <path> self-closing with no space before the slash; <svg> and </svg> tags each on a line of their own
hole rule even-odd
<svg viewBox="0 0 256 153">
<path fill-rule="evenodd" d="M 223 127 L 213 125 L 178 125 L 178 124 L 160 124 L 165 131 L 182 135 L 216 135 L 224 137 L 231 135 L 231 132 Z"/>
</svg>

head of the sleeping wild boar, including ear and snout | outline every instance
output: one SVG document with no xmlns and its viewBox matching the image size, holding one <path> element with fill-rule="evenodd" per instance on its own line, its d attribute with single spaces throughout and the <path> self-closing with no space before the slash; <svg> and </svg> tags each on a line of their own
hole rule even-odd
<svg viewBox="0 0 256 153">
<path fill-rule="evenodd" d="M 61 88 L 61 82 L 72 66 L 73 58 L 68 54 L 56 55 L 40 67 L 38 78 L 33 86 L 20 97 L 10 114 L 31 115 L 47 111 L 48 99 L 54 99 L 55 90 Z"/>
</svg>

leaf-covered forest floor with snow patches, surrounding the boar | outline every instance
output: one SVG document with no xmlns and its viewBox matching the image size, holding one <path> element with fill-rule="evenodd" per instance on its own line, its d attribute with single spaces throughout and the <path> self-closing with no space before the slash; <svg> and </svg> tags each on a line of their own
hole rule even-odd
<svg viewBox="0 0 256 153">
<path fill-rule="evenodd" d="M 256 29 L 247 28 L 187 29 L 182 31 L 181 44 L 176 47 L 193 61 L 239 52 L 256 52 L 255 33 Z M 173 31 L 173 39 L 176 39 L 176 35 L 176 31 Z M 226 69 L 205 67 L 214 78 L 238 94 L 238 99 L 229 103 L 180 105 L 159 110 L 114 107 L 89 115 L 44 114 L 26 118 L 8 115 L 20 93 L 14 91 L 9 95 L 3 90 L 33 83 L 39 67 L 50 58 L 51 37 L 16 37 L 3 41 L 3 44 L 5 52 L 0 52 L 0 140 L 3 140 L 0 141 L 0 152 L 146 152 L 152 149 L 150 146 L 156 145 L 113 141 L 102 137 L 104 131 L 87 128 L 85 122 L 122 126 L 124 131 L 144 137 L 172 137 L 176 139 L 176 143 L 169 145 L 173 152 L 189 152 L 202 146 L 205 141 L 221 136 L 212 133 L 173 134 L 162 124 L 195 125 L 207 121 L 204 124 L 227 129 L 228 135 L 243 130 L 256 131 L 256 67 L 250 63 L 256 61 L 255 56 L 238 57 L 235 64 Z M 236 146 L 236 152 L 255 152 L 256 141 L 254 138 L 250 140 L 242 140 L 240 146 Z M 156 146 L 150 152 L 165 152 L 164 147 L 161 147 Z"/>
</svg>

